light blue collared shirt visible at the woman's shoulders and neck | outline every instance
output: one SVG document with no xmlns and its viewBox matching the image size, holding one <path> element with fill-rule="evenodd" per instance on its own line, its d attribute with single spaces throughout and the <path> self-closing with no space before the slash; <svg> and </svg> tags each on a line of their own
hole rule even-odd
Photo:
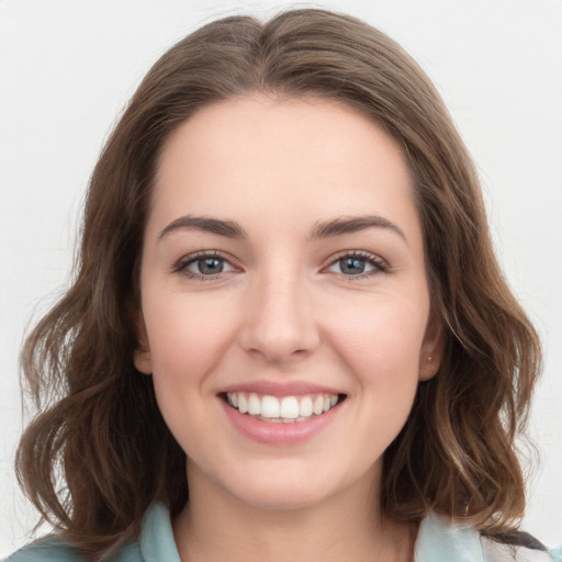
<svg viewBox="0 0 562 562">
<path fill-rule="evenodd" d="M 4 562 L 83 561 L 71 547 L 50 537 L 24 547 Z M 167 507 L 153 505 L 145 514 L 138 540 L 112 561 L 181 562 Z M 562 554 L 499 544 L 482 538 L 471 527 L 452 525 L 445 517 L 429 515 L 419 526 L 414 562 L 562 562 Z"/>
</svg>

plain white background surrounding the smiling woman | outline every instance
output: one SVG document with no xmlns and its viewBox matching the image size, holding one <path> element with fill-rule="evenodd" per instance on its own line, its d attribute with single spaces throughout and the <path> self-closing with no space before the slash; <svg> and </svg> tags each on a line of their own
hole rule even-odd
<svg viewBox="0 0 562 562">
<path fill-rule="evenodd" d="M 68 280 L 80 204 L 104 138 L 156 58 L 216 16 L 283 2 L 0 0 L 0 557 L 34 514 L 18 491 L 18 350 Z M 306 4 L 311 5 L 311 4 Z M 319 5 L 319 4 L 316 4 Z M 525 528 L 562 541 L 562 0 L 322 4 L 397 40 L 436 82 L 471 149 L 508 279 L 546 372 L 531 436 L 542 461 Z"/>
</svg>

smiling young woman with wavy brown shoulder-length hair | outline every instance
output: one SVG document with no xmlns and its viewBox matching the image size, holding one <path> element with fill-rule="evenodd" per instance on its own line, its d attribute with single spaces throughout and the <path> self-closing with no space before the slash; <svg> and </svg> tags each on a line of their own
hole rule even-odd
<svg viewBox="0 0 562 562">
<path fill-rule="evenodd" d="M 537 335 L 439 95 L 351 18 L 156 63 L 24 364 L 56 536 L 10 560 L 552 559 L 516 531 Z"/>
</svg>

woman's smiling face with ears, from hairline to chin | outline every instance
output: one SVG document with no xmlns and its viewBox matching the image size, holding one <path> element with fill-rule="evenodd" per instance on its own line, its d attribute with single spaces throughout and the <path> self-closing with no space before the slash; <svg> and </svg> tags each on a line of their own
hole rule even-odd
<svg viewBox="0 0 562 562">
<path fill-rule="evenodd" d="M 168 139 L 135 364 L 191 490 L 285 508 L 379 482 L 439 366 L 411 183 L 334 101 L 224 101 Z"/>
</svg>

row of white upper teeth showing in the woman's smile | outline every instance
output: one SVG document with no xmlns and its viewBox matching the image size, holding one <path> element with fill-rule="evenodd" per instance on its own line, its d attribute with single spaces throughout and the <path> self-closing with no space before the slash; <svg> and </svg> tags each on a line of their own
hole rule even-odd
<svg viewBox="0 0 562 562">
<path fill-rule="evenodd" d="M 304 396 L 258 395 L 255 392 L 228 392 L 228 404 L 241 414 L 260 416 L 268 422 L 302 422 L 313 415 L 328 412 L 338 402 L 337 394 L 306 394 Z"/>
</svg>

